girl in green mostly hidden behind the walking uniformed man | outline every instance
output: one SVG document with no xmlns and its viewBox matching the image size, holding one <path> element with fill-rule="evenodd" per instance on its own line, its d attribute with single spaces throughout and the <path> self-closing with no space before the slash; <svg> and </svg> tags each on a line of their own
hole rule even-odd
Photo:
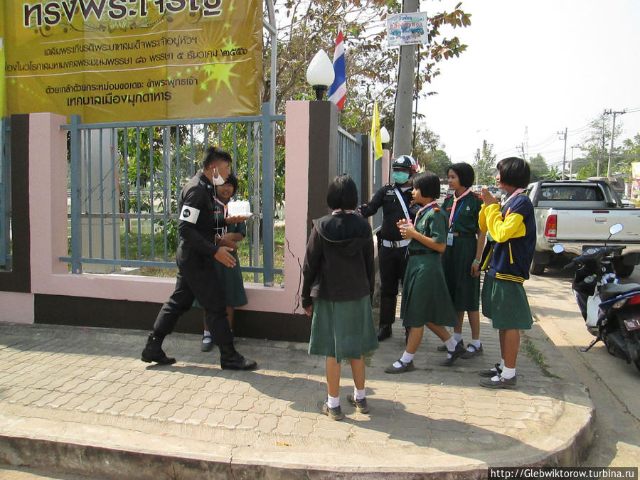
<svg viewBox="0 0 640 480">
<path fill-rule="evenodd" d="M 215 187 L 215 206 L 214 210 L 215 223 L 215 242 L 217 245 L 224 245 L 233 248 L 231 255 L 235 257 L 235 266 L 226 267 L 220 262 L 214 262 L 214 268 L 220 285 L 225 290 L 225 302 L 227 304 L 227 319 L 229 326 L 233 329 L 233 314 L 235 307 L 247 304 L 247 294 L 245 294 L 245 286 L 242 281 L 242 271 L 240 270 L 240 259 L 238 258 L 238 242 L 247 235 L 247 227 L 244 217 L 230 217 L 227 214 L 227 203 L 235 195 L 238 190 L 238 178 L 230 174 L 225 183 Z M 195 306 L 200 306 L 198 301 L 193 302 Z M 204 314 L 203 314 L 204 315 Z M 207 329 L 206 321 L 204 321 L 204 334 L 202 337 L 201 351 L 210 351 L 213 348 L 211 334 Z"/>
</svg>

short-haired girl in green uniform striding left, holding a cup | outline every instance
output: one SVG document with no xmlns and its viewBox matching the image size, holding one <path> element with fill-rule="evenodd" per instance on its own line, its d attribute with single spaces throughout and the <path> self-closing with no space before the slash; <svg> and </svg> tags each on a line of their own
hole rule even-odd
<svg viewBox="0 0 640 480">
<path fill-rule="evenodd" d="M 455 326 L 456 314 L 444 280 L 440 253 L 447 240 L 447 223 L 436 199 L 440 196 L 440 180 L 436 174 L 425 171 L 413 178 L 413 199 L 422 205 L 415 217 L 415 225 L 400 220 L 398 228 L 402 238 L 410 239 L 407 247 L 407 270 L 402 282 L 402 324 L 409 327 L 407 348 L 402 356 L 385 368 L 386 373 L 415 370 L 413 359 L 425 325 L 447 347 L 447 359 L 454 361 L 464 353 L 447 331 Z"/>
</svg>

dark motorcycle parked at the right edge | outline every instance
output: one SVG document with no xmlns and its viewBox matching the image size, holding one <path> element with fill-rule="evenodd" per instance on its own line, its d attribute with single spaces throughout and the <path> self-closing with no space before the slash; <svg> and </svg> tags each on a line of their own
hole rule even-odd
<svg viewBox="0 0 640 480">
<path fill-rule="evenodd" d="M 621 232 L 623 225 L 609 228 L 609 238 Z M 607 242 L 609 239 L 607 239 Z M 633 362 L 640 370 L 640 284 L 619 284 L 614 271 L 614 257 L 619 257 L 624 246 L 585 246 L 581 255 L 574 257 L 565 269 L 575 267 L 571 288 L 585 319 L 587 330 L 595 338 L 583 352 L 603 341 L 607 351 Z M 562 253 L 562 245 L 553 247 Z M 625 262 L 638 265 L 638 255 L 624 257 Z"/>
</svg>

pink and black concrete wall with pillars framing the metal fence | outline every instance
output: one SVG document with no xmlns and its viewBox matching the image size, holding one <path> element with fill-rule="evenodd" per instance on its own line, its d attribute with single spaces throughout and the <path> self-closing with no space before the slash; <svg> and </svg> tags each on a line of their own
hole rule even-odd
<svg viewBox="0 0 640 480">
<path fill-rule="evenodd" d="M 14 116 L 12 122 L 14 175 L 18 166 L 26 166 L 19 172 L 26 176 L 26 182 L 23 186 L 14 182 L 13 218 L 14 225 L 18 220 L 21 233 L 18 238 L 14 235 L 18 261 L 14 261 L 14 272 L 3 273 L 18 275 L 22 287 L 9 292 L 11 288 L 6 285 L 11 282 L 4 275 L 5 282 L 1 283 L 0 276 L 0 321 L 150 329 L 161 304 L 173 292 L 175 279 L 70 274 L 68 264 L 58 260 L 68 255 L 67 142 L 66 132 L 60 129 L 66 119 L 38 113 Z M 245 284 L 249 303 L 237 313 L 236 334 L 308 339 L 309 319 L 299 306 L 302 262 L 309 222 L 326 210 L 326 178 L 335 175 L 329 167 L 333 123 L 337 127 L 337 110 L 329 102 L 287 102 L 284 288 Z M 325 142 L 326 148 L 320 148 Z M 25 158 L 18 159 L 18 151 Z M 314 175 L 324 172 L 324 187 L 314 190 L 317 185 L 309 181 L 311 171 Z M 28 196 L 20 188 L 28 191 Z M 23 200 L 16 201 L 18 198 Z M 23 226 L 22 220 L 26 221 Z M 200 331 L 200 316 L 192 314 L 189 318 L 183 326 L 178 323 L 178 328 Z"/>
</svg>

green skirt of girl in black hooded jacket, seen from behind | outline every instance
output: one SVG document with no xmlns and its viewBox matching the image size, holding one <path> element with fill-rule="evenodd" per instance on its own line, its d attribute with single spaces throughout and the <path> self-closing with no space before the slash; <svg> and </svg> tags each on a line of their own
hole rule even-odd
<svg viewBox="0 0 640 480">
<path fill-rule="evenodd" d="M 309 353 L 343 358 L 361 358 L 378 348 L 371 300 L 367 295 L 351 302 L 314 300 L 314 316 L 311 319 Z"/>
</svg>

